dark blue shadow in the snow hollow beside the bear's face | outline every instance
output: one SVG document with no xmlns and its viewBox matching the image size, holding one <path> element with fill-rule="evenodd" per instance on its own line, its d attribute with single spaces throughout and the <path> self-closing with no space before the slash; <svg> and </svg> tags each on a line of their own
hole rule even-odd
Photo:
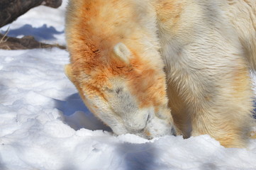
<svg viewBox="0 0 256 170">
<path fill-rule="evenodd" d="M 89 130 L 106 130 L 111 132 L 111 128 L 96 118 L 84 105 L 79 94 L 68 96 L 65 101 L 55 99 L 55 107 L 62 111 L 67 123 L 74 130 L 86 128 Z"/>
</svg>

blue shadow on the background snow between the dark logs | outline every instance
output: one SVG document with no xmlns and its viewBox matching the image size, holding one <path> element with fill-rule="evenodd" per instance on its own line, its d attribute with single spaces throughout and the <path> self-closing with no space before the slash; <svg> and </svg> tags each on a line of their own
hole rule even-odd
<svg viewBox="0 0 256 170">
<path fill-rule="evenodd" d="M 0 33 L 4 34 L 5 31 L 0 30 Z M 7 34 L 10 37 L 18 37 L 20 35 L 32 35 L 35 40 L 56 40 L 54 35 L 62 34 L 64 30 L 58 31 L 54 27 L 48 27 L 46 24 L 41 26 L 40 28 L 34 28 L 33 26 L 26 24 L 21 28 L 17 28 L 14 30 L 9 30 Z"/>
</svg>

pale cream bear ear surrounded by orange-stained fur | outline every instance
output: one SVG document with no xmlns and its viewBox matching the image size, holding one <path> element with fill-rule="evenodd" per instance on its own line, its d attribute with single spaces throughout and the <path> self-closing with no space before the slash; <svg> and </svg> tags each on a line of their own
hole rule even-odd
<svg viewBox="0 0 256 170">
<path fill-rule="evenodd" d="M 113 47 L 113 52 L 120 60 L 126 62 L 127 64 L 129 63 L 131 52 L 122 42 L 118 42 L 115 47 Z"/>
</svg>

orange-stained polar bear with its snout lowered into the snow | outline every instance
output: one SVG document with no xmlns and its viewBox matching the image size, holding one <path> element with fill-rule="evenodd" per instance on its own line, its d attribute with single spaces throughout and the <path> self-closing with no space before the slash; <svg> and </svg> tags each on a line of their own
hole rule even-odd
<svg viewBox="0 0 256 170">
<path fill-rule="evenodd" d="M 65 72 L 117 135 L 246 147 L 255 0 L 69 0 Z"/>
</svg>

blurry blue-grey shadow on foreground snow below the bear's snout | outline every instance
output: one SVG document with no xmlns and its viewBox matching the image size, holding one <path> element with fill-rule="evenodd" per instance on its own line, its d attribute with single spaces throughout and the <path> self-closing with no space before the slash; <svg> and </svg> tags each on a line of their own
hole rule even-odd
<svg viewBox="0 0 256 170">
<path fill-rule="evenodd" d="M 118 145 L 117 152 L 121 157 L 121 167 L 126 170 L 155 170 L 168 169 L 169 166 L 157 163 L 157 149 L 153 143 L 143 144 L 121 143 Z"/>
</svg>

